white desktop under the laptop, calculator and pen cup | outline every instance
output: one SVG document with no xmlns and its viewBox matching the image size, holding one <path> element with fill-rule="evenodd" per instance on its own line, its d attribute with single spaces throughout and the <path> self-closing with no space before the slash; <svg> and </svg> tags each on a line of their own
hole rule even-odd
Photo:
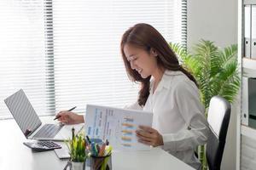
<svg viewBox="0 0 256 170">
<path fill-rule="evenodd" d="M 44 121 L 47 119 L 49 117 L 44 117 Z M 1 170 L 62 170 L 67 163 L 59 160 L 53 150 L 32 152 L 22 144 L 26 138 L 14 120 L 0 121 L 0 134 Z M 113 152 L 112 164 L 113 170 L 193 169 L 159 148 L 150 151 Z"/>
</svg>

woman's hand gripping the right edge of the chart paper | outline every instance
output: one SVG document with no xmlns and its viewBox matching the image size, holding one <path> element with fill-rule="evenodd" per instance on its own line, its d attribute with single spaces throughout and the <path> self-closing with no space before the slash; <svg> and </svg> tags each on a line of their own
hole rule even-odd
<svg viewBox="0 0 256 170">
<path fill-rule="evenodd" d="M 152 127 L 139 126 L 136 131 L 138 141 L 152 146 L 164 145 L 162 135 Z"/>
</svg>

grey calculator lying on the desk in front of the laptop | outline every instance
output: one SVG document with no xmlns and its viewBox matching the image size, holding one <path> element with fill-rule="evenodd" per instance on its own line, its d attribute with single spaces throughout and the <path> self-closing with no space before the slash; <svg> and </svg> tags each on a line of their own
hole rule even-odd
<svg viewBox="0 0 256 170">
<path fill-rule="evenodd" d="M 55 149 L 61 149 L 61 145 L 56 144 L 53 141 L 34 141 L 34 142 L 24 142 L 27 147 L 31 148 L 32 151 L 48 151 L 48 150 L 55 150 Z"/>
</svg>

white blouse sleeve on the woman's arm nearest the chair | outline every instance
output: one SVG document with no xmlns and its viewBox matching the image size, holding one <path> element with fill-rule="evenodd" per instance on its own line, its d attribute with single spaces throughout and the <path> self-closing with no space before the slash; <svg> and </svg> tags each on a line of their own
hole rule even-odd
<svg viewBox="0 0 256 170">
<path fill-rule="evenodd" d="M 197 145 L 207 142 L 207 119 L 204 116 L 198 89 L 191 83 L 194 82 L 177 83 L 173 97 L 186 125 L 177 133 L 162 134 L 164 150 L 194 150 Z"/>
</svg>

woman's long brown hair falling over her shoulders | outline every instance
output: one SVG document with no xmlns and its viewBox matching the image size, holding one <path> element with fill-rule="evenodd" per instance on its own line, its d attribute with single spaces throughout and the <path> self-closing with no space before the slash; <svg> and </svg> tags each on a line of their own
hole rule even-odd
<svg viewBox="0 0 256 170">
<path fill-rule="evenodd" d="M 143 48 L 148 51 L 148 53 L 150 49 L 153 48 L 157 54 L 157 65 L 160 66 L 160 68 L 165 68 L 170 71 L 182 71 L 191 81 L 195 82 L 195 85 L 197 86 L 195 78 L 179 65 L 176 54 L 169 47 L 160 32 L 154 29 L 153 26 L 140 23 L 125 31 L 120 45 L 128 77 L 130 77 L 132 82 L 141 82 L 141 89 L 137 100 L 139 105 L 145 105 L 148 99 L 151 76 L 143 78 L 137 71 L 131 69 L 130 62 L 125 57 L 125 44 Z"/>
</svg>

